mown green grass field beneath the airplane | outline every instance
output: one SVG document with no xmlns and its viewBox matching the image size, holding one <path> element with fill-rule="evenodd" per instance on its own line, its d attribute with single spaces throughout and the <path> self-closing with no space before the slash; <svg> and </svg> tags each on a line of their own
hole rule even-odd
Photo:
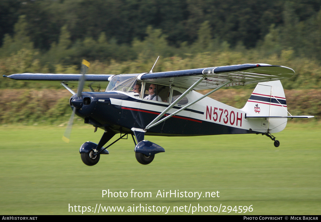
<svg viewBox="0 0 321 222">
<path fill-rule="evenodd" d="M 0 126 L 0 214 L 321 214 L 321 127 L 316 123 L 288 124 L 274 135 L 278 148 L 262 135 L 145 137 L 166 150 L 146 166 L 136 161 L 131 137 L 111 146 L 97 165 L 86 166 L 79 147 L 97 143 L 102 130 L 74 126 L 69 144 L 61 140 L 64 130 Z M 118 196 L 102 197 L 108 189 Z M 159 191 L 184 197 L 163 197 Z M 195 192 L 202 192 L 198 200 Z M 124 207 L 124 212 L 100 208 L 98 213 L 99 206 Z M 239 213 L 239 206 L 247 211 Z"/>
</svg>

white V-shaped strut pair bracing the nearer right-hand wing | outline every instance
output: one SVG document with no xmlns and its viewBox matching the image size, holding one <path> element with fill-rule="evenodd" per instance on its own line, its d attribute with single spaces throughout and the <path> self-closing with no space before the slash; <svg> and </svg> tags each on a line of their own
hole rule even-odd
<svg viewBox="0 0 321 222">
<path fill-rule="evenodd" d="M 187 93 L 189 93 L 191 90 L 193 90 L 193 88 L 194 88 L 197 84 L 199 84 L 202 80 L 203 80 L 203 78 L 199 79 L 199 80 L 198 80 L 197 82 L 195 82 L 190 88 L 188 88 L 188 90 L 186 90 L 177 100 L 175 100 L 174 103 L 172 103 L 169 107 L 167 107 L 167 108 L 166 108 L 160 115 L 158 115 L 150 124 L 148 124 L 148 125 L 146 126 L 145 130 L 147 130 L 147 129 L 153 127 L 153 126 L 156 126 L 156 125 L 160 124 L 161 122 L 163 122 L 163 121 L 167 120 L 168 118 L 170 118 L 170 117 L 178 114 L 179 112 L 183 111 L 183 110 L 186 109 L 187 107 L 192 106 L 194 103 L 202 100 L 203 98 L 207 97 L 208 95 L 212 94 L 213 92 L 221 89 L 222 87 L 224 87 L 224 86 L 226 86 L 226 85 L 228 85 L 228 84 L 230 84 L 230 83 L 232 82 L 232 81 L 225 82 L 224 84 L 222 84 L 222 85 L 219 86 L 218 88 L 210 91 L 209 93 L 205 94 L 204 96 L 196 99 L 195 101 L 193 101 L 193 102 L 187 104 L 186 106 L 180 108 L 180 109 L 177 110 L 176 112 L 174 112 L 174 113 L 166 116 L 165 118 L 161 119 L 160 121 L 156 122 L 156 121 L 159 120 L 160 117 L 162 117 L 167 111 L 169 111 L 169 109 L 171 109 L 176 103 L 178 103 L 179 100 L 181 100 L 185 95 L 187 95 Z"/>
</svg>

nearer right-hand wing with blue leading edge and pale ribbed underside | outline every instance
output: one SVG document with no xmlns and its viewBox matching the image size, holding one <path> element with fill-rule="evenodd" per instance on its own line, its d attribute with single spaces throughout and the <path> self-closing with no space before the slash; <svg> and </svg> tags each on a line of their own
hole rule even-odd
<svg viewBox="0 0 321 222">
<path fill-rule="evenodd" d="M 290 78 L 293 74 L 294 71 L 292 69 L 284 66 L 240 64 L 182 71 L 142 73 L 137 79 L 140 81 L 189 88 L 203 77 L 204 81 L 195 86 L 194 90 L 204 90 L 215 89 L 228 82 L 229 84 L 226 86 L 282 80 Z"/>
</svg>

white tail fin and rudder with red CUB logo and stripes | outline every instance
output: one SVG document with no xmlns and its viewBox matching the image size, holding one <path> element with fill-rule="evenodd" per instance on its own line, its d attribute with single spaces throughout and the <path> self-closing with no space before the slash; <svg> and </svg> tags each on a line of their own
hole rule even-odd
<svg viewBox="0 0 321 222">
<path fill-rule="evenodd" d="M 248 120 L 256 126 L 257 129 L 253 130 L 270 133 L 282 131 L 286 126 L 287 118 L 275 118 L 288 115 L 281 81 L 258 83 L 242 110 L 247 116 L 257 117 Z M 267 118 L 267 116 L 273 116 L 273 118 Z"/>
</svg>

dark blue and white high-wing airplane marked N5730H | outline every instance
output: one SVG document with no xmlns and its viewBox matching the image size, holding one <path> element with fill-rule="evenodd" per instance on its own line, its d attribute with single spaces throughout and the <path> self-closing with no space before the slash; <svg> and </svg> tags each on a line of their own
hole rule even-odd
<svg viewBox="0 0 321 222">
<path fill-rule="evenodd" d="M 67 129 L 70 129 L 76 114 L 84 119 L 84 123 L 93 125 L 95 132 L 97 128 L 104 130 L 98 144 L 85 142 L 80 147 L 81 159 L 88 166 L 97 164 L 100 154 L 109 154 L 107 148 L 128 134 L 134 140 L 137 161 L 146 165 L 152 162 L 155 154 L 165 152 L 165 149 L 144 140 L 145 135 L 256 133 L 268 136 L 278 147 L 280 142 L 271 133 L 282 131 L 288 118 L 313 117 L 292 116 L 287 111 L 280 80 L 290 78 L 294 71 L 284 66 L 240 64 L 158 73 L 151 70 L 141 74 L 101 75 L 85 74 L 89 65 L 83 60 L 80 74 L 4 75 L 14 80 L 59 82 L 73 94 L 69 101 L 73 113 Z M 242 109 L 207 97 L 222 87 L 250 83 L 257 85 Z M 77 85 L 78 90 L 74 92 L 72 89 Z M 90 91 L 83 92 L 84 87 Z M 106 90 L 101 92 L 100 89 Z M 204 89 L 212 91 L 205 95 L 195 91 Z M 69 133 L 70 130 L 66 130 L 66 140 L 69 140 Z M 120 137 L 103 148 L 118 133 Z"/>
</svg>

